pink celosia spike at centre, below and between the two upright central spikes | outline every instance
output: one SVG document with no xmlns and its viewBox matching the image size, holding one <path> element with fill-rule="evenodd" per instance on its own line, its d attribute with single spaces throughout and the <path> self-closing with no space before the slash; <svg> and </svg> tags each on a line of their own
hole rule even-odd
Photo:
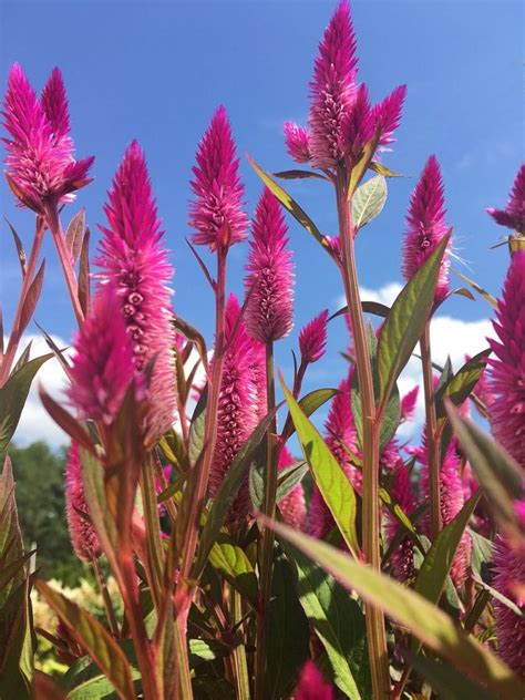
<svg viewBox="0 0 525 700">
<path fill-rule="evenodd" d="M 240 313 L 235 295 L 226 302 L 225 343 Z M 209 494 L 215 497 L 240 446 L 257 425 L 257 402 L 251 369 L 251 339 L 240 321 L 225 358 L 217 412 L 217 440 L 209 473 Z M 231 505 L 228 521 L 240 521 L 250 508 L 248 481 L 245 480 Z"/>
</svg>

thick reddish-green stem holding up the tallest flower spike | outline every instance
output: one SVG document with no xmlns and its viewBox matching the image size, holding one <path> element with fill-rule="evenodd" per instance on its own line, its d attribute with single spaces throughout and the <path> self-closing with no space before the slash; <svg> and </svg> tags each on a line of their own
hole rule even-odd
<svg viewBox="0 0 525 700">
<path fill-rule="evenodd" d="M 381 569 L 379 507 L 379 429 L 381 423 L 375 410 L 372 367 L 359 295 L 351 202 L 347 197 L 347 177 L 342 171 L 339 173 L 336 189 L 341 236 L 342 282 L 352 326 L 363 420 L 362 548 L 367 563 L 379 572 Z M 372 605 L 366 604 L 364 607 L 373 698 L 385 700 L 390 690 L 390 673 L 384 615 Z"/>
</svg>

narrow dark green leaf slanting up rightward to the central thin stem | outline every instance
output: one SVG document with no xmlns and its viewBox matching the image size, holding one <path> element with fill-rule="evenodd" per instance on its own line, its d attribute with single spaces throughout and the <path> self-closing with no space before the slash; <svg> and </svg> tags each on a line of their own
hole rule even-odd
<svg viewBox="0 0 525 700">
<path fill-rule="evenodd" d="M 197 559 L 194 563 L 192 570 L 193 578 L 198 578 L 203 572 L 212 547 L 214 546 L 220 527 L 223 526 L 224 518 L 226 517 L 245 478 L 246 470 L 254 457 L 255 451 L 268 431 L 276 412 L 277 409 L 274 409 L 260 421 L 248 440 L 243 443 L 235 460 L 228 469 L 226 476 L 220 484 L 217 496 L 209 508 L 203 532 L 200 533 Z"/>
</svg>

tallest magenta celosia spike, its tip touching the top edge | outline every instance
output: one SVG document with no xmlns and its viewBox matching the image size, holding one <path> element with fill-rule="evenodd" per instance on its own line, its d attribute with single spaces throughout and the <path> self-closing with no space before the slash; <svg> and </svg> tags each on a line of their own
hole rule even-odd
<svg viewBox="0 0 525 700">
<path fill-rule="evenodd" d="M 331 168 L 346 155 L 344 125 L 356 101 L 357 63 L 350 9 L 341 0 L 319 44 L 310 83 L 308 123 L 316 167 Z"/>
</svg>

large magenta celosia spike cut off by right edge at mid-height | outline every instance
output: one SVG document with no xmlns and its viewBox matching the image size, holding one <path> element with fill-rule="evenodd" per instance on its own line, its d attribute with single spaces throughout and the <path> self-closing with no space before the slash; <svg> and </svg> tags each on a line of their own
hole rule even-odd
<svg viewBox="0 0 525 700">
<path fill-rule="evenodd" d="M 525 253 L 512 258 L 488 339 L 490 406 L 496 440 L 525 469 Z"/>
</svg>

